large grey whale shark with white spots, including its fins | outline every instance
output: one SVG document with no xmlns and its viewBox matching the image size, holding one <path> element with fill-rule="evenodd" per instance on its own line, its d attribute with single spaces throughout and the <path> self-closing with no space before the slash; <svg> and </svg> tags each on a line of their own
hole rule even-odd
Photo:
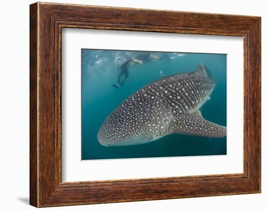
<svg viewBox="0 0 268 210">
<path fill-rule="evenodd" d="M 226 136 L 226 127 L 204 119 L 199 111 L 214 86 L 203 63 L 193 72 L 156 80 L 130 95 L 105 119 L 97 140 L 103 146 L 127 146 L 175 133 Z"/>
</svg>

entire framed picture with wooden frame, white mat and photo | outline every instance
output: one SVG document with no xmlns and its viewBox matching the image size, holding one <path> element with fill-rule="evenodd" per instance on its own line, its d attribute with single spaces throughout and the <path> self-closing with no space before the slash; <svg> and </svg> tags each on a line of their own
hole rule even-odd
<svg viewBox="0 0 268 210">
<path fill-rule="evenodd" d="M 260 17 L 30 5 L 30 204 L 260 193 L 260 34 Z"/>
</svg>

